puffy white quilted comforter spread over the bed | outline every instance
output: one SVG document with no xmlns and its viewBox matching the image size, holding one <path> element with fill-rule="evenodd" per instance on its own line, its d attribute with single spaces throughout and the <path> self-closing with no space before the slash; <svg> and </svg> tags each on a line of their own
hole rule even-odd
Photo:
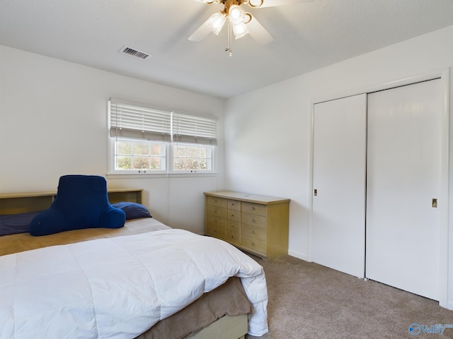
<svg viewBox="0 0 453 339">
<path fill-rule="evenodd" d="M 234 275 L 248 333 L 267 333 L 263 268 L 214 238 L 161 230 L 0 256 L 0 338 L 134 338 Z"/>
</svg>

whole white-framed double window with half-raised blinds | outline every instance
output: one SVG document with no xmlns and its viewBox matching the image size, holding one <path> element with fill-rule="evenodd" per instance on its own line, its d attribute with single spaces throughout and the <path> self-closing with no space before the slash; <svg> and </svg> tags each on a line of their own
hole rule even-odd
<svg viewBox="0 0 453 339">
<path fill-rule="evenodd" d="M 217 120 L 109 100 L 110 172 L 215 172 Z"/>
</svg>

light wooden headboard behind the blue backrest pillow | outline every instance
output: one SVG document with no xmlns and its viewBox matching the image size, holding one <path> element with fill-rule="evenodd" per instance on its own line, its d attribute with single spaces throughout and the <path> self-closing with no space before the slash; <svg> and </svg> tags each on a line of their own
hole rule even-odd
<svg viewBox="0 0 453 339">
<path fill-rule="evenodd" d="M 0 194 L 0 215 L 38 212 L 49 208 L 57 192 L 33 192 Z M 130 201 L 142 203 L 143 189 L 109 189 L 110 203 Z"/>
</svg>

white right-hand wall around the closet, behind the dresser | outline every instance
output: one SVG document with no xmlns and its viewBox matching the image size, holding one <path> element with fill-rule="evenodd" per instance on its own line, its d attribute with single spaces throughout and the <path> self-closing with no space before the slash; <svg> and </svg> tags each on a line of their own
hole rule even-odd
<svg viewBox="0 0 453 339">
<path fill-rule="evenodd" d="M 452 37 L 453 26 L 449 26 L 228 100 L 226 186 L 291 198 L 289 254 L 310 258 L 312 103 L 320 97 L 452 67 Z M 450 97 L 452 90 L 450 83 Z M 451 184 L 449 191 L 453 192 Z M 453 202 L 451 193 L 449 201 Z M 453 210 L 451 203 L 449 210 Z M 451 239 L 449 248 L 453 249 Z M 449 256 L 449 307 L 453 308 L 453 259 Z"/>
</svg>

